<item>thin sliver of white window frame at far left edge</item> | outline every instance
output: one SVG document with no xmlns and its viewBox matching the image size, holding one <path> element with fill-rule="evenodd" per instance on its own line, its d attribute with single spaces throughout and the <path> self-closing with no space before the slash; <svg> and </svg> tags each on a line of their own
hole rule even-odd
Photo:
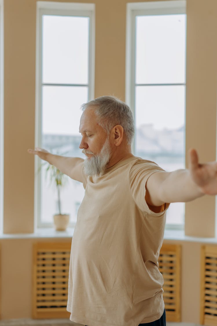
<svg viewBox="0 0 217 326">
<path fill-rule="evenodd" d="M 0 0 L 0 234 L 4 221 L 4 0 Z"/>
</svg>

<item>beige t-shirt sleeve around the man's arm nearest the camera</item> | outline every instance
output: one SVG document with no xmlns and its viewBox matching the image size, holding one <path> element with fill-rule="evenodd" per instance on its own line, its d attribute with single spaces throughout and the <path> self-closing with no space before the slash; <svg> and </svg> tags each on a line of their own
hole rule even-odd
<svg viewBox="0 0 217 326">
<path fill-rule="evenodd" d="M 129 185 L 132 197 L 135 200 L 137 206 L 142 211 L 155 216 L 162 215 L 162 212 L 164 212 L 169 207 L 169 204 L 165 203 L 162 205 L 160 212 L 155 213 L 151 211 L 145 201 L 146 182 L 150 175 L 159 171 L 164 170 L 160 168 L 156 163 L 151 161 L 144 161 L 142 159 L 141 161 L 136 162 L 136 164 L 134 164 L 129 171 Z"/>
</svg>

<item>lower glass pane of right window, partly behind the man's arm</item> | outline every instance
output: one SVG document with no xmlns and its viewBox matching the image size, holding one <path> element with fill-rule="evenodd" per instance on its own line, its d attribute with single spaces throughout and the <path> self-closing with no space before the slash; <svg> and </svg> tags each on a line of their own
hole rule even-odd
<svg viewBox="0 0 217 326">
<path fill-rule="evenodd" d="M 185 86 L 136 86 L 135 155 L 166 171 L 185 166 Z M 184 204 L 173 203 L 167 223 L 183 224 Z"/>
</svg>

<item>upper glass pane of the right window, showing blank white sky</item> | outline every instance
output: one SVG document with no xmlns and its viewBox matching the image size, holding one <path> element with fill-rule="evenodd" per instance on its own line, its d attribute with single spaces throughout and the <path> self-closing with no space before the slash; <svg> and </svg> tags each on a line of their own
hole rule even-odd
<svg viewBox="0 0 217 326">
<path fill-rule="evenodd" d="M 136 83 L 185 82 L 186 15 L 136 17 Z"/>
</svg>

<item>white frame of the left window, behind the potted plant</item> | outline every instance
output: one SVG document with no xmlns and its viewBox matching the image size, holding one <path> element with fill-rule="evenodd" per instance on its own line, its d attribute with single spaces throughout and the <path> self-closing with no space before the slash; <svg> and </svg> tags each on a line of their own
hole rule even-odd
<svg viewBox="0 0 217 326">
<path fill-rule="evenodd" d="M 94 98 L 95 71 L 95 4 L 37 1 L 36 14 L 36 74 L 35 74 L 35 146 L 41 146 L 42 106 L 42 15 L 89 17 L 88 101 Z M 41 160 L 35 156 L 34 230 L 50 228 L 52 223 L 41 222 L 41 177 L 38 169 Z M 70 224 L 71 227 L 75 223 Z"/>
</svg>

